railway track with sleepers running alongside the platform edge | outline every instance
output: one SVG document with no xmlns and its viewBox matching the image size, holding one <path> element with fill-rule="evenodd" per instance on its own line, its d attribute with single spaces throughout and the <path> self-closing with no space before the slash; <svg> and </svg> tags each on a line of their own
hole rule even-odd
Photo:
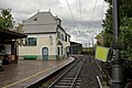
<svg viewBox="0 0 132 88">
<path fill-rule="evenodd" d="M 80 88 L 81 78 L 78 77 L 84 66 L 84 61 L 79 59 L 69 69 L 67 69 L 48 88 Z"/>
</svg>

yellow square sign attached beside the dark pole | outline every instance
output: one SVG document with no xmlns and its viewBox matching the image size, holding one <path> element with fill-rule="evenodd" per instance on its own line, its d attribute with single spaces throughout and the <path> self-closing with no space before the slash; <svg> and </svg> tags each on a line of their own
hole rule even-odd
<svg viewBox="0 0 132 88">
<path fill-rule="evenodd" d="M 97 46 L 96 48 L 96 58 L 106 62 L 109 53 L 108 47 Z"/>
</svg>

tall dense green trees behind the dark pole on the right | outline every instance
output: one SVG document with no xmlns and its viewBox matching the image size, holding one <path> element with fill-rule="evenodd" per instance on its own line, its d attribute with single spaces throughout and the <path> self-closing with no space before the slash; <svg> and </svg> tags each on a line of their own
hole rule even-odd
<svg viewBox="0 0 132 88">
<path fill-rule="evenodd" d="M 132 0 L 118 0 L 119 1 L 119 40 L 124 44 L 121 51 L 122 58 L 132 58 Z M 106 13 L 103 24 L 103 43 L 109 46 L 113 37 L 112 28 L 112 0 L 106 0 L 109 3 L 109 9 Z"/>
</svg>

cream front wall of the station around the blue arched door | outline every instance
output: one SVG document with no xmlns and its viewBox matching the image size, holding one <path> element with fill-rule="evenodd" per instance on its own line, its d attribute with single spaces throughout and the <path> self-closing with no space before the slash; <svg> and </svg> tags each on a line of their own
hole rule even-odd
<svg viewBox="0 0 132 88">
<path fill-rule="evenodd" d="M 43 47 L 48 48 L 48 55 L 56 55 L 56 34 L 30 34 L 28 37 L 36 37 L 36 46 L 19 47 L 19 55 L 42 55 Z"/>
</svg>

